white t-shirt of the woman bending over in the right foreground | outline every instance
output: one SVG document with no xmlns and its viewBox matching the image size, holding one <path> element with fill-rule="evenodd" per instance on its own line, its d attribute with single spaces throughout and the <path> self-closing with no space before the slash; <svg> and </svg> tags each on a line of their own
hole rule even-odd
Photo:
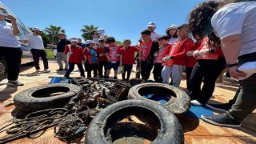
<svg viewBox="0 0 256 144">
<path fill-rule="evenodd" d="M 221 39 L 241 34 L 239 56 L 256 52 L 256 2 L 234 2 L 222 7 L 211 25 Z"/>
</svg>

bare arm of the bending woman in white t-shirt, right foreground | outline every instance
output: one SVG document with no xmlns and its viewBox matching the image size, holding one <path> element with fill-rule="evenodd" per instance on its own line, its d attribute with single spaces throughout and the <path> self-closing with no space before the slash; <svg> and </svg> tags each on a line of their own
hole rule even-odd
<svg viewBox="0 0 256 144">
<path fill-rule="evenodd" d="M 238 61 L 238 56 L 241 48 L 241 34 L 230 35 L 221 39 L 222 52 L 225 56 L 227 64 L 234 64 Z M 229 68 L 229 73 L 232 78 L 246 77 L 246 74 L 238 71 L 238 66 Z"/>
</svg>

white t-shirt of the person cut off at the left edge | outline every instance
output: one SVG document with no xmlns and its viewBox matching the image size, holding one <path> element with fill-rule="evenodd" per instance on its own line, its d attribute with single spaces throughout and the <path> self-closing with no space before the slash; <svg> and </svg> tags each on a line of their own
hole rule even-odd
<svg viewBox="0 0 256 144">
<path fill-rule="evenodd" d="M 18 39 L 13 33 L 11 23 L 6 21 L 0 21 L 0 46 L 13 48 L 21 47 Z"/>
</svg>

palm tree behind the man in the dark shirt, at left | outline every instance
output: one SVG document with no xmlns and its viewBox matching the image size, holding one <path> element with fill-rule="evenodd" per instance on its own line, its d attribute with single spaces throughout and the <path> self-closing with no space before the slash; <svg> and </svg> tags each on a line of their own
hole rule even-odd
<svg viewBox="0 0 256 144">
<path fill-rule="evenodd" d="M 65 30 L 62 30 L 61 26 L 53 26 L 53 25 L 46 27 L 46 30 L 44 31 L 46 32 L 46 36 L 49 38 L 50 43 L 54 45 L 56 45 L 58 42 L 58 37 L 57 37 L 58 32 L 61 31 L 62 33 L 65 33 Z"/>
</svg>

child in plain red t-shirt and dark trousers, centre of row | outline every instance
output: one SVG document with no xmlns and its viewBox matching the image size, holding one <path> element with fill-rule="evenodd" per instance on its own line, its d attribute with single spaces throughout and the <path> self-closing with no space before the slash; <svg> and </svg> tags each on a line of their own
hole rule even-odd
<svg viewBox="0 0 256 144">
<path fill-rule="evenodd" d="M 130 46 L 130 39 L 123 40 L 124 47 L 120 50 L 120 66 L 124 66 L 124 72 L 122 74 L 122 80 L 128 81 L 130 78 L 130 72 L 133 68 L 133 64 L 135 63 L 135 52 L 138 51 L 138 48 L 134 46 Z M 127 77 L 126 76 L 127 72 Z"/>
</svg>

